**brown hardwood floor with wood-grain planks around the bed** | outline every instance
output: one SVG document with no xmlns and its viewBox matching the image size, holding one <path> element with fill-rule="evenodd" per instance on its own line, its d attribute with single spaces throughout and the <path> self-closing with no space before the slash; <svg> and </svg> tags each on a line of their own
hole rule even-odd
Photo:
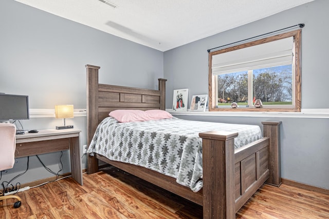
<svg viewBox="0 0 329 219">
<path fill-rule="evenodd" d="M 0 202 L 0 218 L 202 218 L 202 207 L 116 168 L 71 177 L 18 193 Z M 329 195 L 264 185 L 236 218 L 329 218 Z"/>
</svg>

